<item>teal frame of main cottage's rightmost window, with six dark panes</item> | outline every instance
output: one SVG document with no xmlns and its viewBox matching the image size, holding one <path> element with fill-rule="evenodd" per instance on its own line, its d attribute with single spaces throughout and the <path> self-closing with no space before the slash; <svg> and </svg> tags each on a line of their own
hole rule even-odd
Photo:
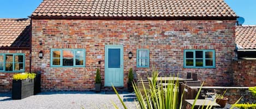
<svg viewBox="0 0 256 109">
<path fill-rule="evenodd" d="M 195 52 L 197 51 L 201 51 L 203 52 L 203 58 L 200 58 L 200 59 L 203 59 L 203 67 L 197 67 L 195 66 L 196 65 L 196 62 L 195 60 L 197 60 L 197 58 L 195 57 Z M 186 58 L 186 52 L 193 52 L 193 58 Z M 205 53 L 206 52 L 212 52 L 212 66 L 206 66 L 206 62 L 205 60 L 209 59 L 209 58 L 205 58 Z M 193 66 L 186 66 L 186 59 L 193 59 Z M 216 65 L 215 65 L 215 49 L 184 49 L 183 51 L 183 67 L 184 68 L 216 68 Z"/>
</svg>

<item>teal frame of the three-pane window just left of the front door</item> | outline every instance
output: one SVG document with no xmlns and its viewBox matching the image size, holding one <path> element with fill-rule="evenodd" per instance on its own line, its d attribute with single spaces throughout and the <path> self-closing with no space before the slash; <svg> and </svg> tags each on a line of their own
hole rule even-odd
<svg viewBox="0 0 256 109">
<path fill-rule="evenodd" d="M 63 66 L 63 50 L 71 50 L 74 53 L 74 60 L 73 60 L 73 66 Z M 52 59 L 58 59 L 58 57 L 52 57 L 53 56 L 53 51 L 60 51 L 61 53 L 61 57 L 59 57 L 60 59 L 60 65 L 52 65 Z M 84 58 L 83 58 L 83 65 L 75 65 L 75 53 L 77 51 L 82 51 L 84 53 Z M 50 67 L 85 67 L 85 62 L 86 62 L 86 50 L 85 49 L 51 49 L 51 57 L 50 57 Z"/>
</svg>

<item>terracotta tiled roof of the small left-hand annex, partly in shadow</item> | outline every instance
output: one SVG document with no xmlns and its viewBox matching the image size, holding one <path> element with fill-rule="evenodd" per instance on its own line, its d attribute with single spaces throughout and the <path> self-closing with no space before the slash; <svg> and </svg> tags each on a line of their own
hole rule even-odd
<svg viewBox="0 0 256 109">
<path fill-rule="evenodd" d="M 30 19 L 0 18 L 0 47 L 29 47 Z"/>
</svg>

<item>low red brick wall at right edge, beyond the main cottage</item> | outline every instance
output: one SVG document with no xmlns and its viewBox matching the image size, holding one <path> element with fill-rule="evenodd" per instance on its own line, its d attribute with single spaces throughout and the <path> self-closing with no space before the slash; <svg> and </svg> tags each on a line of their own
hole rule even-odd
<svg viewBox="0 0 256 109">
<path fill-rule="evenodd" d="M 256 86 L 256 60 L 233 61 L 235 86 Z"/>
</svg>

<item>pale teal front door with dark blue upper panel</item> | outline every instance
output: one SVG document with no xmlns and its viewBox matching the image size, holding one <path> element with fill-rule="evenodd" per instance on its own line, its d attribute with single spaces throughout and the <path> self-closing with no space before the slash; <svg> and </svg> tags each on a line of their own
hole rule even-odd
<svg viewBox="0 0 256 109">
<path fill-rule="evenodd" d="M 105 46 L 105 86 L 123 86 L 123 46 Z"/>
</svg>

